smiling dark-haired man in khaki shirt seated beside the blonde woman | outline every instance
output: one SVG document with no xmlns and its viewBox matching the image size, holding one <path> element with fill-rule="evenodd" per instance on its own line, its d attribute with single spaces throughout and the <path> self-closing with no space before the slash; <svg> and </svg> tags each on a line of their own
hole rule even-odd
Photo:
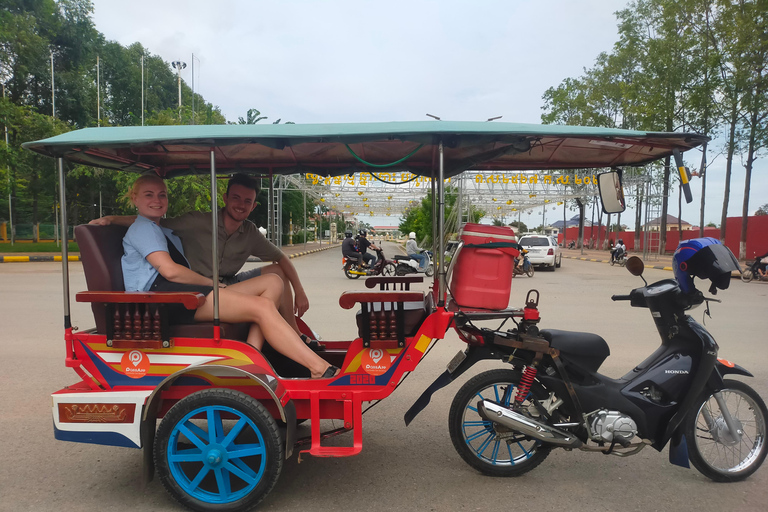
<svg viewBox="0 0 768 512">
<path fill-rule="evenodd" d="M 248 216 L 258 204 L 256 202 L 258 193 L 258 181 L 245 174 L 235 174 L 227 184 L 224 207 L 219 210 L 219 280 L 229 285 L 258 278 L 262 274 L 277 274 L 285 284 L 279 308 L 280 314 L 297 333 L 301 334 L 294 314 L 299 317 L 304 315 L 309 309 L 309 299 L 290 258 L 267 240 L 259 228 L 248 220 Z M 130 226 L 135 219 L 135 216 L 109 215 L 92 220 L 91 224 Z M 170 228 L 176 236 L 181 238 L 184 254 L 192 270 L 205 277 L 213 276 L 211 259 L 213 229 L 210 213 L 189 212 L 179 217 L 161 219 L 160 225 Z M 273 263 L 239 272 L 249 256 Z M 312 349 L 321 348 L 316 341 L 304 336 L 302 338 Z"/>
</svg>

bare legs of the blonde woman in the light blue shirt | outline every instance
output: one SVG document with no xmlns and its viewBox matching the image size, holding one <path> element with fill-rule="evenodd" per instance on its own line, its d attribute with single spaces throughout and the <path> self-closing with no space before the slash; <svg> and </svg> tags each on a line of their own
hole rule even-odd
<svg viewBox="0 0 768 512">
<path fill-rule="evenodd" d="M 327 361 L 312 351 L 285 322 L 277 311 L 274 302 L 266 297 L 255 297 L 229 290 L 219 290 L 220 318 L 224 322 L 251 322 L 258 324 L 263 338 L 269 340 L 272 347 L 307 368 L 313 378 L 323 375 L 330 367 Z M 205 304 L 198 308 L 195 320 L 206 322 L 213 319 L 212 293 L 206 297 Z M 251 334 L 249 332 L 249 341 Z M 255 346 L 255 345 L 254 345 Z M 260 348 L 257 346 L 256 348 Z"/>
</svg>

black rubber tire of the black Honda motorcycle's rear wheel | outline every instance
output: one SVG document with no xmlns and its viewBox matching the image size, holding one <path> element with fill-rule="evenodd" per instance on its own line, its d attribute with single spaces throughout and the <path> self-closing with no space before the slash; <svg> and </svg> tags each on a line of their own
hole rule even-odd
<svg viewBox="0 0 768 512">
<path fill-rule="evenodd" d="M 552 446 L 542 444 L 530 438 L 523 438 L 522 435 L 519 435 L 521 439 L 519 442 L 504 443 L 504 441 L 497 440 L 495 443 L 491 443 L 490 438 L 495 437 L 500 433 L 499 430 L 501 430 L 497 430 L 498 427 L 496 424 L 485 425 L 483 427 L 478 425 L 477 431 L 472 432 L 470 435 L 473 439 L 467 439 L 467 431 L 465 430 L 465 427 L 468 429 L 473 428 L 476 425 L 465 425 L 465 422 L 472 423 L 483 421 L 475 409 L 475 404 L 480 399 L 478 394 L 489 388 L 494 388 L 495 391 L 506 391 L 509 385 L 512 385 L 513 387 L 509 391 L 509 394 L 511 400 L 514 400 L 517 383 L 520 382 L 520 377 L 521 373 L 517 370 L 497 369 L 483 372 L 468 380 L 467 383 L 459 389 L 459 392 L 456 393 L 456 396 L 451 403 L 451 411 L 448 416 L 448 430 L 451 434 L 453 447 L 467 464 L 483 474 L 503 477 L 522 475 L 541 464 L 552 450 Z M 545 399 L 547 396 L 547 393 L 537 382 L 534 382 L 534 385 L 531 387 L 531 392 L 540 400 Z M 484 396 L 484 398 L 494 399 L 495 397 Z M 505 402 L 503 399 L 499 399 L 499 401 Z M 523 403 L 526 404 L 527 402 Z M 506 431 L 505 433 L 509 434 L 509 431 Z M 501 444 L 506 444 L 506 447 L 508 447 L 507 453 L 509 453 L 509 462 L 497 459 L 497 463 L 494 463 L 490 459 L 484 457 L 487 447 L 478 453 L 475 448 L 470 446 L 471 441 L 479 439 L 480 435 L 488 436 L 486 438 L 486 440 L 488 440 L 488 446 L 495 444 L 494 451 L 497 454 L 500 452 L 499 448 L 501 447 Z M 523 447 L 523 444 L 528 445 L 530 448 L 526 450 Z M 519 460 L 515 461 L 514 459 L 518 457 L 511 453 L 512 446 L 514 446 L 516 450 L 519 448 L 521 451 L 527 452 L 527 455 L 524 456 L 521 454 Z M 514 461 L 514 463 L 510 463 L 512 461 Z"/>
</svg>

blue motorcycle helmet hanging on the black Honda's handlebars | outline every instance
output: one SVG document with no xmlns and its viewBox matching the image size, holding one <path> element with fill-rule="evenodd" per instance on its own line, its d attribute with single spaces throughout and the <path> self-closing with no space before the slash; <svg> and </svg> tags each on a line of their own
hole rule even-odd
<svg viewBox="0 0 768 512">
<path fill-rule="evenodd" d="M 709 293 L 725 290 L 731 284 L 731 272 L 741 270 L 730 249 L 717 238 L 694 238 L 680 242 L 672 255 L 672 271 L 683 293 L 693 293 L 693 278 L 709 279 Z"/>
</svg>

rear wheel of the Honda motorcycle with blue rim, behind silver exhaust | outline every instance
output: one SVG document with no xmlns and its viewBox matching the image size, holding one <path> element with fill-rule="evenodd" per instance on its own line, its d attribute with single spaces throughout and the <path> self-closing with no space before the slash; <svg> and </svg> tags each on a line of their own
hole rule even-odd
<svg viewBox="0 0 768 512">
<path fill-rule="evenodd" d="M 517 370 L 490 370 L 471 378 L 453 399 L 448 417 L 451 441 L 464 461 L 491 476 L 518 476 L 532 470 L 549 455 L 551 446 L 484 420 L 477 412 L 480 400 L 509 407 L 515 399 L 521 373 Z M 531 387 L 539 400 L 546 394 L 537 383 Z M 539 396 L 541 395 L 541 396 Z M 531 394 L 523 411 L 531 405 Z"/>
</svg>

